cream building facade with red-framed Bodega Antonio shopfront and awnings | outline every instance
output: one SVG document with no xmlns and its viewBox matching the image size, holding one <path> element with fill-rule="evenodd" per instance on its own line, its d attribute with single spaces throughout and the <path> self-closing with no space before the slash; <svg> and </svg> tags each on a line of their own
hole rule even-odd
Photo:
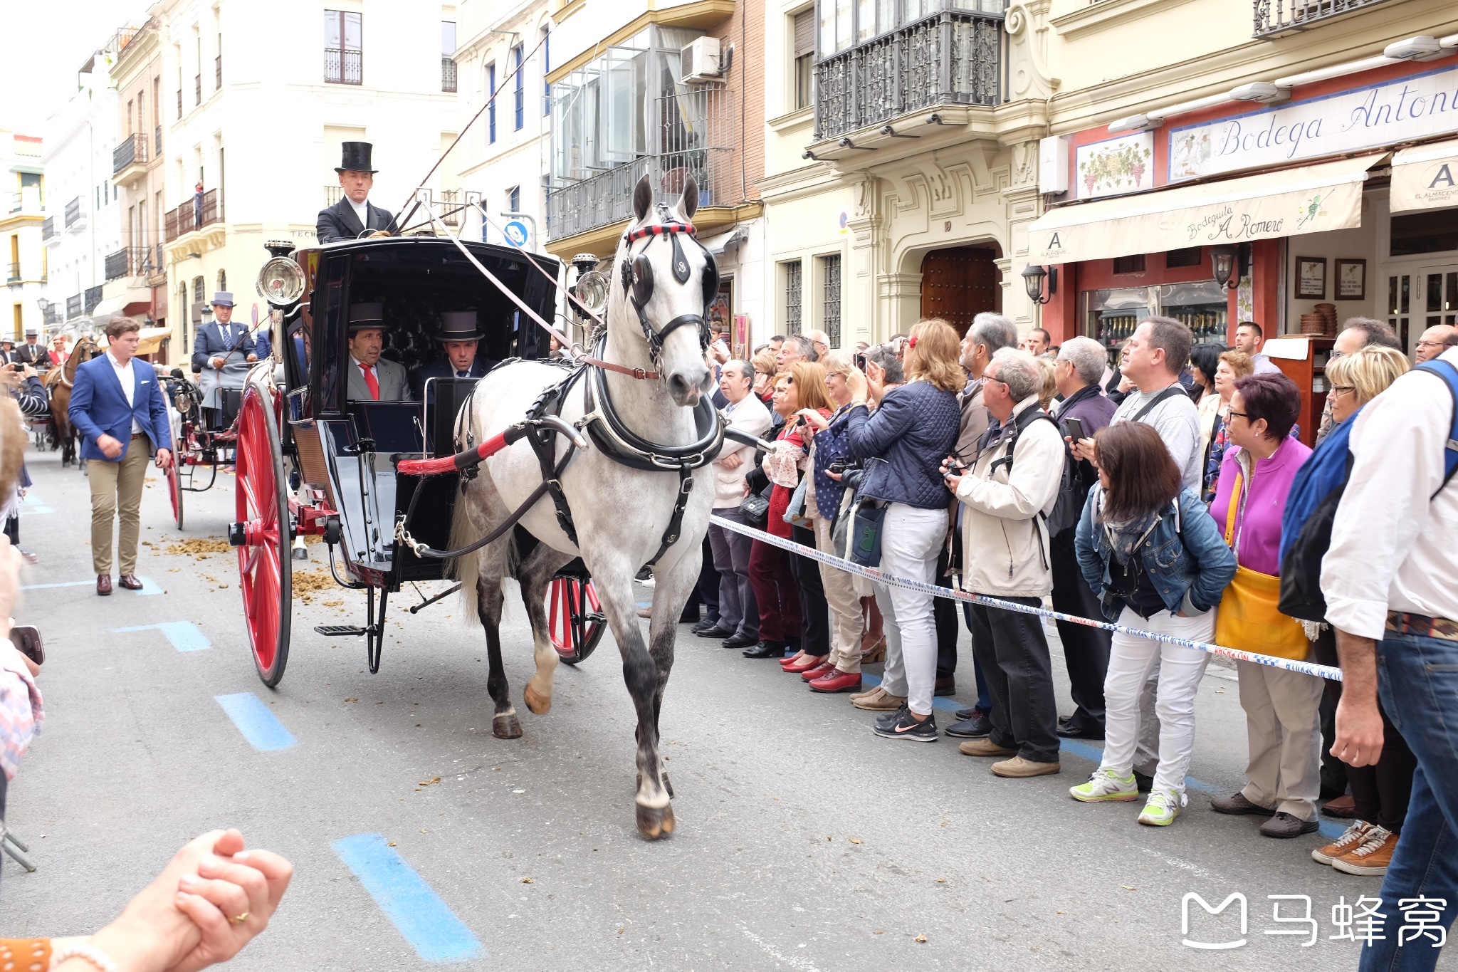
<svg viewBox="0 0 1458 972">
<path fill-rule="evenodd" d="M 1458 12 L 1338 6 L 1254 0 L 1254 31 L 1137 3 L 1051 17 L 1064 82 L 1028 262 L 1057 273 L 1054 341 L 1117 360 L 1147 313 L 1206 342 L 1254 321 L 1309 440 L 1341 321 L 1384 319 L 1408 353 L 1458 322 Z M 1115 26 L 1112 64 L 1096 52 Z"/>
</svg>

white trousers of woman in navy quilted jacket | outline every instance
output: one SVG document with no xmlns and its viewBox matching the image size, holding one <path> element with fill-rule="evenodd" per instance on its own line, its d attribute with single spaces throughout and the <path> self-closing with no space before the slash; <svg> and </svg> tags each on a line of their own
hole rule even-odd
<svg viewBox="0 0 1458 972">
<path fill-rule="evenodd" d="M 936 583 L 936 558 L 945 539 L 945 509 L 921 510 L 892 503 L 882 522 L 881 571 Z M 875 587 L 886 634 L 886 667 L 881 685 L 892 695 L 905 695 L 907 705 L 917 716 L 929 716 L 936 689 L 933 597 L 905 587 Z"/>
</svg>

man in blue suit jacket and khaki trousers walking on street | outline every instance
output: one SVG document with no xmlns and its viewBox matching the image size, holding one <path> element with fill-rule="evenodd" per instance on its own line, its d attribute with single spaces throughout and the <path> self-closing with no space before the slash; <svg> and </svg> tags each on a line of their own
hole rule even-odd
<svg viewBox="0 0 1458 972">
<path fill-rule="evenodd" d="M 92 491 L 92 565 L 96 593 L 111 593 L 112 519 L 121 512 L 117 560 L 120 583 L 139 590 L 137 535 L 141 529 L 141 487 L 147 459 L 157 468 L 172 462 L 172 424 L 157 375 L 147 361 L 136 361 L 140 328 L 130 318 L 106 324 L 108 350 L 76 369 L 67 415 L 82 433 L 82 459 Z"/>
</svg>

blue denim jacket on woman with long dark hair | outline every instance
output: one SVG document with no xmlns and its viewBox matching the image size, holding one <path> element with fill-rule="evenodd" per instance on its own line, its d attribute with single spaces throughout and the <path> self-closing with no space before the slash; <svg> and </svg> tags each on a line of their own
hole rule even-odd
<svg viewBox="0 0 1458 972">
<path fill-rule="evenodd" d="M 1118 621 L 1123 602 L 1107 595 L 1108 563 L 1114 552 L 1096 517 L 1102 495 L 1098 485 L 1089 490 L 1073 544 L 1083 580 L 1098 596 L 1099 609 L 1108 621 Z M 1165 608 L 1175 614 L 1197 615 L 1215 608 L 1235 577 L 1235 555 L 1193 490 L 1184 490 L 1161 514 L 1139 546 L 1139 555 Z"/>
</svg>

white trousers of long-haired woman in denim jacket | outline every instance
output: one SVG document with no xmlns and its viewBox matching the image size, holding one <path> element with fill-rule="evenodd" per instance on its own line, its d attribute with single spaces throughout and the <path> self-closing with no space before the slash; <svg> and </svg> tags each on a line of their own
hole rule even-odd
<svg viewBox="0 0 1458 972">
<path fill-rule="evenodd" d="M 1191 641 L 1215 638 L 1215 611 L 1194 618 L 1180 618 L 1161 611 L 1147 621 L 1124 608 L 1118 622 Z M 1166 641 L 1155 641 L 1133 634 L 1115 632 L 1104 679 L 1104 769 L 1127 777 L 1133 769 L 1139 745 L 1139 697 L 1150 670 L 1159 666 L 1159 689 L 1155 711 L 1159 716 L 1159 768 L 1156 790 L 1184 793 L 1190 753 L 1194 750 L 1194 697 L 1200 688 L 1210 656 L 1196 648 L 1182 648 Z"/>
</svg>

